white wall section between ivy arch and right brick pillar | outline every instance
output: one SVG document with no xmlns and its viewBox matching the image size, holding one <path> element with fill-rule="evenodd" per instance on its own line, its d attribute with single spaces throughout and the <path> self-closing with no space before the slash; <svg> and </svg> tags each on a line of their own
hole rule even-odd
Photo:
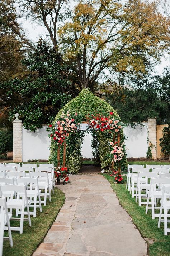
<svg viewBox="0 0 170 256">
<path fill-rule="evenodd" d="M 138 124 L 134 129 L 131 126 L 123 129 L 125 136 L 128 137 L 125 140 L 127 157 L 146 157 L 148 123 L 142 124 L 144 126 Z"/>
</svg>

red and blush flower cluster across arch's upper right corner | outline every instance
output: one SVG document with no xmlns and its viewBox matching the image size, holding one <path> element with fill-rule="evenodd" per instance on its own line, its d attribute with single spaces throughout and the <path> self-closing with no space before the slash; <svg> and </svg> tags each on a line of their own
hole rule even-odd
<svg viewBox="0 0 170 256">
<path fill-rule="evenodd" d="M 89 128 L 99 130 L 101 132 L 106 130 L 113 130 L 118 132 L 121 129 L 121 121 L 113 118 L 113 112 L 109 113 L 109 116 L 103 116 L 100 114 L 87 116 Z"/>
</svg>

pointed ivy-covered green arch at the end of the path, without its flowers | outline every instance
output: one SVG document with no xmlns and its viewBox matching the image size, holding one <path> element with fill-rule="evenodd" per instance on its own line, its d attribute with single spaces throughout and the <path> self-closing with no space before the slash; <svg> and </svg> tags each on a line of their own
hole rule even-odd
<svg viewBox="0 0 170 256">
<path fill-rule="evenodd" d="M 53 122 L 53 126 L 55 126 L 57 120 L 61 119 L 62 112 L 67 113 L 69 111 L 70 115 L 73 116 L 75 113 L 77 121 L 82 123 L 86 121 L 87 116 L 90 114 L 100 114 L 104 116 L 108 116 L 109 112 L 113 112 L 114 117 L 118 117 L 117 112 L 104 100 L 96 97 L 93 93 L 89 91 L 89 89 L 82 90 L 79 95 L 68 102 L 56 115 L 56 118 Z M 94 156 L 98 156 L 101 168 L 109 169 L 109 166 L 112 162 L 112 155 L 110 154 L 110 146 L 109 142 L 113 139 L 112 133 L 105 132 L 96 132 L 92 131 L 93 140 L 93 154 Z M 66 137 L 66 166 L 69 167 L 70 173 L 79 173 L 82 157 L 81 157 L 81 146 L 84 137 L 84 132 L 77 131 L 74 134 L 71 134 L 69 137 Z M 116 139 L 116 137 L 115 137 Z M 121 131 L 121 142 L 124 141 L 123 131 Z M 123 146 L 124 147 L 124 146 Z M 56 141 L 51 140 L 50 145 L 50 156 L 49 162 L 54 163 L 57 166 L 57 148 L 58 145 Z M 124 147 L 125 152 L 125 147 Z M 61 156 L 63 154 L 63 147 L 61 147 Z M 62 159 L 62 157 L 61 157 Z M 121 170 L 126 168 L 126 154 L 121 160 Z M 62 162 L 60 162 L 60 166 L 62 166 Z"/>
</svg>

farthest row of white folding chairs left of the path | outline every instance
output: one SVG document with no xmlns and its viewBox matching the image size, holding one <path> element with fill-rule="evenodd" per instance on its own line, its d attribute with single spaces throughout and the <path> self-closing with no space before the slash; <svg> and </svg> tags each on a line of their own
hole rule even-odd
<svg viewBox="0 0 170 256">
<path fill-rule="evenodd" d="M 16 170 L 16 171 L 15 171 Z M 53 176 L 53 171 L 51 167 L 36 167 L 35 171 L 41 171 L 41 172 L 47 172 L 48 173 L 48 177 L 49 177 L 49 181 L 50 181 L 50 185 L 51 185 L 51 189 L 52 192 L 54 193 L 54 176 Z M 3 174 L 4 172 L 4 174 Z M 12 172 L 12 173 L 11 173 Z M 11 166 L 4 166 L 4 167 L 0 167 L 0 176 L 4 176 L 4 177 L 10 177 L 10 176 L 16 176 L 18 175 L 17 173 L 14 172 L 28 172 L 26 173 L 26 177 L 31 177 L 30 173 L 34 172 L 33 167 L 11 167 Z M 42 179 L 42 178 L 39 178 Z"/>
</svg>

